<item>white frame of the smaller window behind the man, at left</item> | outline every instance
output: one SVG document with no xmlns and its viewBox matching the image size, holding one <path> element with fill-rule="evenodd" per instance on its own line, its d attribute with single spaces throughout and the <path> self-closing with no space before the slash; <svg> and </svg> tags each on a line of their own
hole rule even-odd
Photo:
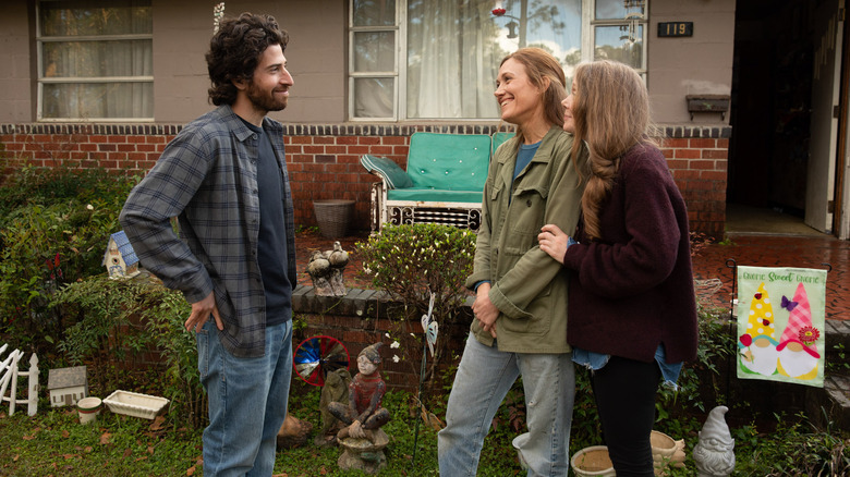
<svg viewBox="0 0 850 477">
<path fill-rule="evenodd" d="M 44 87 L 47 84 L 85 84 L 85 83 L 150 83 L 154 84 L 154 76 L 98 76 L 98 77 L 46 77 L 44 70 L 45 44 L 65 42 L 65 41 L 114 41 L 114 40 L 150 40 L 153 44 L 154 33 L 150 34 L 127 34 L 127 35 L 80 35 L 80 36 L 44 36 L 41 35 L 41 15 L 40 8 L 42 3 L 56 2 L 58 0 L 38 0 L 36 2 L 36 50 L 38 64 L 38 88 L 37 88 L 37 108 L 36 120 L 39 122 L 154 122 L 154 118 L 44 118 Z M 150 98 L 154 101 L 154 98 Z M 153 105 L 151 105 L 153 111 Z"/>
</svg>

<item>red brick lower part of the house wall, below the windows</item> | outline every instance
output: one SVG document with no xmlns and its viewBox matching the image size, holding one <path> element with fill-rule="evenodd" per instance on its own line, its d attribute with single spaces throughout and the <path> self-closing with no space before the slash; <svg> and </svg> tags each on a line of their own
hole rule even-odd
<svg viewBox="0 0 850 477">
<path fill-rule="evenodd" d="M 142 174 L 180 131 L 173 124 L 0 124 L 0 168 L 102 167 Z M 493 134 L 493 125 L 284 125 L 287 163 L 295 199 L 295 223 L 315 225 L 313 200 L 355 201 L 355 230 L 368 229 L 369 184 L 364 154 L 404 163 L 417 131 Z M 688 203 L 691 228 L 722 238 L 731 129 L 661 126 L 656 136 Z"/>
</svg>

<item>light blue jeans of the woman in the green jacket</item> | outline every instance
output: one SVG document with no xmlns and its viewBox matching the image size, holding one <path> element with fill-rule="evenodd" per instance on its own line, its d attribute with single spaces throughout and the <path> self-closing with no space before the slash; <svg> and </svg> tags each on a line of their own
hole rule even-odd
<svg viewBox="0 0 850 477">
<path fill-rule="evenodd" d="M 522 376 L 529 432 L 514 441 L 529 476 L 566 476 L 575 395 L 571 354 L 505 353 L 466 340 L 437 435 L 440 475 L 474 476 L 484 438 L 508 391 Z"/>
</svg>

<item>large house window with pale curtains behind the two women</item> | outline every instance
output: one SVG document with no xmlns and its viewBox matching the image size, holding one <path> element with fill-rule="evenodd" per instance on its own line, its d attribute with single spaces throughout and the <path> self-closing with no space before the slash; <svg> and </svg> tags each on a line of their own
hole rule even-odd
<svg viewBox="0 0 850 477">
<path fill-rule="evenodd" d="M 352 120 L 499 118 L 499 62 L 551 52 L 571 76 L 609 58 L 646 71 L 647 0 L 350 0 Z"/>
</svg>

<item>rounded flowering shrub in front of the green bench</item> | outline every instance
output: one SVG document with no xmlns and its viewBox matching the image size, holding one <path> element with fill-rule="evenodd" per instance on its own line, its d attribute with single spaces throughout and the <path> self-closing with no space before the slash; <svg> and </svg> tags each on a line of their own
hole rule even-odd
<svg viewBox="0 0 850 477">
<path fill-rule="evenodd" d="M 441 327 L 434 348 L 434 359 L 420 377 L 434 382 L 448 348 L 452 320 L 466 299 L 463 283 L 472 273 L 476 235 L 465 229 L 433 223 L 387 225 L 380 232 L 357 243 L 364 272 L 372 277 L 376 290 L 382 290 L 403 304 L 397 320 L 397 339 L 403 351 L 423 350 L 422 337 L 412 333 L 412 322 L 427 313 L 434 293 L 432 319 Z M 414 372 L 418 368 L 408 359 Z"/>
</svg>

